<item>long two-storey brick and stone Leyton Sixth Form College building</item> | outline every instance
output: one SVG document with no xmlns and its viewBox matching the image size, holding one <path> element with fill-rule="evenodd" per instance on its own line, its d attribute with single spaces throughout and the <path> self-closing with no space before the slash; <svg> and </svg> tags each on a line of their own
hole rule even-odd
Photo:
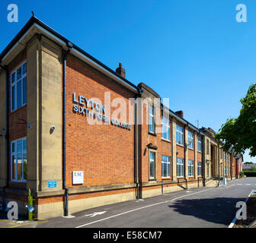
<svg viewBox="0 0 256 243">
<path fill-rule="evenodd" d="M 237 177 L 242 156 L 36 17 L 0 55 L 0 200 L 49 218 Z"/>
</svg>

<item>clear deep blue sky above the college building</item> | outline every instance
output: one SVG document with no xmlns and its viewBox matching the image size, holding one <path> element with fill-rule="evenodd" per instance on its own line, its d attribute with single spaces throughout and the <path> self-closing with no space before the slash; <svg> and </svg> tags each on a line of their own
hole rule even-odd
<svg viewBox="0 0 256 243">
<path fill-rule="evenodd" d="M 18 23 L 7 6 L 18 5 Z M 235 19 L 247 7 L 247 23 Z M 0 52 L 31 17 L 54 30 L 126 78 L 144 82 L 170 109 L 190 123 L 218 131 L 235 118 L 239 102 L 256 80 L 256 1 L 24 1 L 1 0 Z M 248 153 L 245 161 L 253 161 Z"/>
</svg>

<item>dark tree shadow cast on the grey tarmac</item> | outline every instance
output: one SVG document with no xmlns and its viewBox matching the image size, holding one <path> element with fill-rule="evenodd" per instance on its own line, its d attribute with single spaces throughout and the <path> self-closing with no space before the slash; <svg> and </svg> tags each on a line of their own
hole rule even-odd
<svg viewBox="0 0 256 243">
<path fill-rule="evenodd" d="M 177 200 L 169 205 L 175 212 L 194 216 L 208 222 L 224 224 L 228 226 L 235 217 L 238 201 L 245 201 L 245 198 L 216 197 L 206 199 L 184 199 Z"/>
</svg>

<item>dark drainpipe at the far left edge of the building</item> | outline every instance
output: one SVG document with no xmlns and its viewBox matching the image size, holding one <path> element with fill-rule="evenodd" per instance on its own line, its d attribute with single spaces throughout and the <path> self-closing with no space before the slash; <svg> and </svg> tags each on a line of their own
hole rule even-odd
<svg viewBox="0 0 256 243">
<path fill-rule="evenodd" d="M 10 168 L 9 168 L 9 161 L 10 161 L 10 156 L 9 156 L 9 71 L 8 71 L 7 66 L 0 65 L 0 67 L 5 70 L 5 74 L 6 74 L 6 131 L 5 131 L 5 139 L 6 139 L 7 176 L 6 176 L 6 185 L 2 191 L 2 206 L 3 206 L 3 210 L 4 210 L 5 209 L 5 189 L 8 188 L 9 173 L 10 173 Z"/>
</svg>

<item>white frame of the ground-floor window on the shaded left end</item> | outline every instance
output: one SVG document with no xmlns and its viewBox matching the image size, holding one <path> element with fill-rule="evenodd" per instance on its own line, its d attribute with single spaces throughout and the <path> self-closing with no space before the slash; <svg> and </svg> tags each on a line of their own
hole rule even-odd
<svg viewBox="0 0 256 243">
<path fill-rule="evenodd" d="M 15 163 L 15 166 L 16 166 L 16 169 L 15 169 L 15 171 L 16 171 L 16 173 L 15 173 L 15 178 L 12 178 L 12 172 L 13 172 L 13 164 L 12 164 L 12 156 L 15 156 L 15 159 L 16 159 L 16 157 L 17 157 L 17 143 L 18 143 L 18 141 L 21 141 L 22 140 L 22 179 L 21 180 L 18 180 L 18 163 Z M 24 153 L 26 153 L 27 154 L 27 149 L 26 150 L 24 150 L 24 146 L 23 146 L 23 143 L 24 143 L 24 140 L 26 140 L 26 142 L 27 142 L 27 137 L 22 137 L 22 138 L 19 138 L 19 139 L 17 139 L 17 140 L 12 140 L 11 141 L 11 158 L 10 158 L 10 166 L 11 166 L 11 182 L 26 182 L 27 180 L 26 179 L 24 179 L 24 168 L 23 168 L 23 166 L 24 166 Z M 13 146 L 13 144 L 15 144 L 15 150 L 16 151 L 12 151 L 12 146 Z M 26 156 L 26 160 L 27 160 L 27 156 Z"/>
</svg>

